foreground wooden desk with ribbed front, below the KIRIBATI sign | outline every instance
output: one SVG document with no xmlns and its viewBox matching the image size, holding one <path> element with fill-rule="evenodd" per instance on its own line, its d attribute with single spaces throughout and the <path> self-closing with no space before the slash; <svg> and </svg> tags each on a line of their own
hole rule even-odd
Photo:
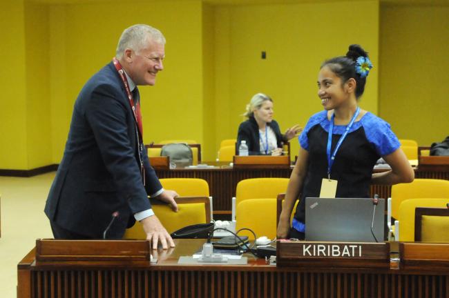
<svg viewBox="0 0 449 298">
<path fill-rule="evenodd" d="M 178 265 L 201 240 L 176 240 L 146 267 L 107 264 L 39 266 L 31 250 L 18 267 L 17 297 L 448 297 L 448 270 L 278 268 L 249 256 L 248 265 Z"/>
</svg>

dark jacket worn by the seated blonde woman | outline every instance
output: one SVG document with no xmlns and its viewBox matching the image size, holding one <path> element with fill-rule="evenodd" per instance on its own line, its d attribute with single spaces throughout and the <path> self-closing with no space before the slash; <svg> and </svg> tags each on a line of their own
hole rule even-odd
<svg viewBox="0 0 449 298">
<path fill-rule="evenodd" d="M 287 143 L 287 139 L 285 139 L 284 135 L 280 133 L 278 122 L 271 120 L 271 122 L 267 123 L 276 135 L 276 140 L 278 141 L 278 148 L 283 147 L 283 143 Z M 260 137 L 259 137 L 259 126 L 254 117 L 249 117 L 249 119 L 245 122 L 240 123 L 238 126 L 237 133 L 237 143 L 236 143 L 236 154 L 238 155 L 238 146 L 240 146 L 240 142 L 242 140 L 247 141 L 249 155 L 262 155 L 260 153 Z"/>
</svg>

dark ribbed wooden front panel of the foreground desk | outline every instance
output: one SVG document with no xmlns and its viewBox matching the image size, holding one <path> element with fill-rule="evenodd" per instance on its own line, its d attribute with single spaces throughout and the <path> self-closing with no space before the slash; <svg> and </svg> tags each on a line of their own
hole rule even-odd
<svg viewBox="0 0 449 298">
<path fill-rule="evenodd" d="M 189 268 L 190 267 L 190 268 Z M 449 277 L 348 272 L 36 270 L 21 297 L 448 297 Z"/>
</svg>

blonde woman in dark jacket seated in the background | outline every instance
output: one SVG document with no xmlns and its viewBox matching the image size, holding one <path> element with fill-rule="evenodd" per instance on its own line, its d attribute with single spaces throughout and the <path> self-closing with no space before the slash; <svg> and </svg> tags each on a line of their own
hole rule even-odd
<svg viewBox="0 0 449 298">
<path fill-rule="evenodd" d="M 279 124 L 273 120 L 273 113 L 273 100 L 269 96 L 263 93 L 254 95 L 244 114 L 248 119 L 238 127 L 237 147 L 245 140 L 249 155 L 282 155 L 283 144 L 303 128 L 295 125 L 282 134 Z"/>
</svg>

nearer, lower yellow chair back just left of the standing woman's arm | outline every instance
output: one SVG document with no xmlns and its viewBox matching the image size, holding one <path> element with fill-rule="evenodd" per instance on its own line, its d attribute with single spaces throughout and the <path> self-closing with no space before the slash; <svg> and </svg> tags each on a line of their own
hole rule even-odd
<svg viewBox="0 0 449 298">
<path fill-rule="evenodd" d="M 236 231 L 240 228 L 250 228 L 256 237 L 267 236 L 269 239 L 276 237 L 276 199 L 247 199 L 237 205 Z M 238 235 L 248 236 L 254 239 L 249 231 L 239 232 Z"/>
</svg>

